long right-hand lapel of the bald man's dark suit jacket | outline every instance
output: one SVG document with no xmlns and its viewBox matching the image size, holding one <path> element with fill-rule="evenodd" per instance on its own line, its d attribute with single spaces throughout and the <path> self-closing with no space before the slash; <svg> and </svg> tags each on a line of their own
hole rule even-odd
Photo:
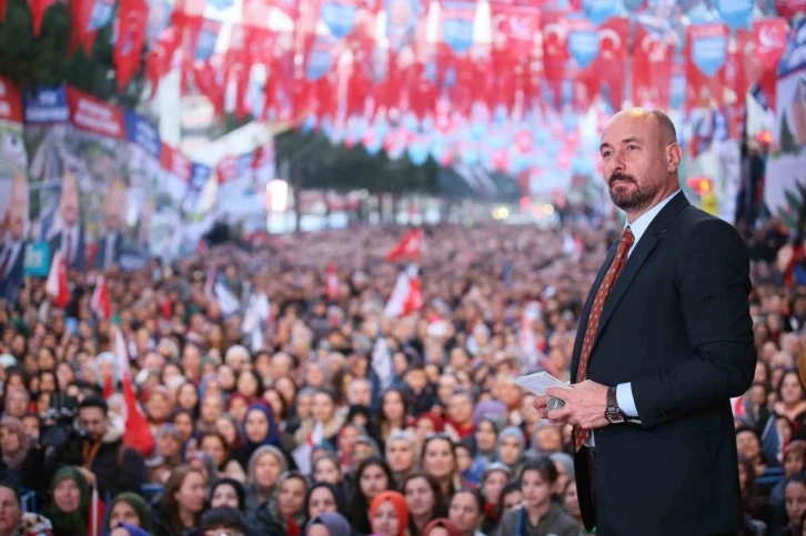
<svg viewBox="0 0 806 536">
<path fill-rule="evenodd" d="M 613 284 L 613 290 L 607 296 L 607 300 L 605 300 L 605 305 L 602 310 L 602 318 L 598 322 L 598 331 L 593 340 L 594 346 L 596 346 L 596 341 L 598 341 L 602 331 L 605 325 L 607 325 L 607 321 L 613 315 L 613 311 L 615 311 L 618 306 L 618 302 L 621 302 L 624 293 L 629 287 L 629 283 L 635 277 L 635 274 L 638 273 L 641 266 L 649 257 L 649 254 L 655 250 L 658 242 L 661 242 L 663 234 L 666 232 L 666 229 L 674 218 L 685 206 L 688 206 L 688 199 L 686 199 L 683 192 L 681 192 L 675 195 L 675 198 L 669 201 L 661 212 L 658 212 L 644 232 L 644 235 L 641 237 L 638 244 L 633 250 L 633 253 L 631 253 L 627 259 L 627 264 L 624 266 L 624 270 L 621 274 L 618 274 L 616 282 Z M 609 266 L 609 264 L 607 264 L 607 266 Z"/>
</svg>

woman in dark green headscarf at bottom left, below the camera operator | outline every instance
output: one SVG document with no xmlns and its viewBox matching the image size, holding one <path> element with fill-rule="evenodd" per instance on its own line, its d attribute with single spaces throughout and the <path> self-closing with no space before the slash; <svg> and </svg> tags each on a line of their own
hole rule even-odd
<svg viewBox="0 0 806 536">
<path fill-rule="evenodd" d="M 50 493 L 53 502 L 47 516 L 56 536 L 92 536 L 103 530 L 103 502 L 93 497 L 81 471 L 72 466 L 57 471 Z M 92 529 L 93 523 L 97 532 Z"/>
</svg>

